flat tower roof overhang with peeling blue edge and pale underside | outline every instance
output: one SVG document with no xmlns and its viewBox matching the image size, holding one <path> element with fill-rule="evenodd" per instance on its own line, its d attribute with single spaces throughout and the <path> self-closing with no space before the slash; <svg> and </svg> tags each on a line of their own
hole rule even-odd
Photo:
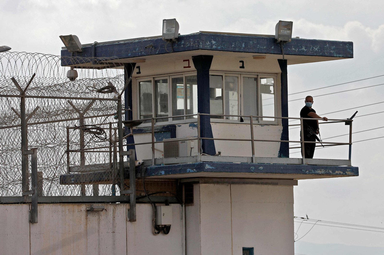
<svg viewBox="0 0 384 255">
<path fill-rule="evenodd" d="M 282 53 L 288 65 L 353 58 L 353 42 L 292 38 L 283 43 L 282 49 L 274 36 L 200 31 L 180 35 L 177 41 L 162 40 L 161 36 L 109 41 L 83 45 L 82 52 L 75 53 L 76 60 L 63 58 L 63 66 L 77 68 L 116 68 L 134 59 L 161 61 L 179 60 L 195 55 L 240 56 L 281 59 Z M 65 47 L 61 56 L 70 57 Z M 96 60 L 96 61 L 95 61 Z"/>
</svg>

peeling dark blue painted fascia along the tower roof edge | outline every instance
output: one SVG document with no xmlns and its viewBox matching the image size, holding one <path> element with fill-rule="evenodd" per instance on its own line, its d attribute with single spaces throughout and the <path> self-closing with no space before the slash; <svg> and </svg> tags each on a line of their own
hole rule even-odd
<svg viewBox="0 0 384 255">
<path fill-rule="evenodd" d="M 146 49 L 145 46 L 153 44 L 154 48 Z M 83 52 L 77 56 L 108 59 L 136 58 L 167 54 L 166 41 L 162 38 L 142 39 L 119 43 L 98 44 L 97 46 L 84 46 Z M 283 45 L 285 55 L 323 56 L 337 58 L 353 58 L 353 42 L 328 41 L 292 38 L 290 43 Z M 95 50 L 95 52 L 93 52 Z M 180 35 L 173 45 L 173 52 L 193 50 L 212 50 L 245 52 L 253 54 L 281 55 L 279 43 L 274 37 L 251 35 L 223 35 L 211 33 L 194 33 Z M 61 56 L 71 56 L 68 50 L 61 50 Z M 62 65 L 70 65 L 69 59 L 62 59 Z M 81 62 L 80 63 L 84 63 Z M 89 61 L 89 60 L 86 60 Z M 105 59 L 104 59 L 105 61 Z"/>
</svg>

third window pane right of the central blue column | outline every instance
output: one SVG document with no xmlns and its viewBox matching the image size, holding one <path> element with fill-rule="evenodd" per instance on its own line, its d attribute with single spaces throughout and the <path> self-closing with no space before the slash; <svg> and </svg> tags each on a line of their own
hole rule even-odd
<svg viewBox="0 0 384 255">
<path fill-rule="evenodd" d="M 243 77 L 243 110 L 242 115 L 257 116 L 257 78 Z M 249 117 L 244 117 L 249 121 Z M 257 120 L 257 118 L 253 118 Z"/>
</svg>

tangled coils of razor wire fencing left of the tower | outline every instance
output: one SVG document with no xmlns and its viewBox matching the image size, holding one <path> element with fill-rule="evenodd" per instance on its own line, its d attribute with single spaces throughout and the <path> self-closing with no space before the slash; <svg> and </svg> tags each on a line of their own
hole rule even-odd
<svg viewBox="0 0 384 255">
<path fill-rule="evenodd" d="M 113 63 L 114 58 L 80 58 L 45 55 L 41 53 L 4 52 L 0 53 L 0 196 L 22 195 L 22 151 L 20 124 L 20 91 L 12 81 L 14 78 L 22 89 L 31 80 L 25 91 L 25 112 L 28 119 L 28 149 L 38 149 L 38 171 L 42 175 L 41 194 L 50 196 L 94 195 L 93 185 L 61 185 L 60 176 L 67 174 L 67 127 L 78 127 L 79 111 L 84 111 L 94 99 L 91 107 L 84 112 L 83 124 L 116 123 L 117 101 L 114 93 L 98 93 L 96 89 L 113 86 L 121 93 L 125 87 L 124 66 Z M 81 64 L 83 68 L 76 68 Z M 70 81 L 66 73 L 70 66 L 78 72 L 78 78 Z M 89 68 L 84 68 L 88 66 Z M 89 87 L 95 88 L 90 90 Z M 122 97 L 124 106 L 124 97 Z M 76 110 L 76 109 L 77 110 Z M 36 109 L 36 110 L 35 110 Z M 35 110 L 35 111 L 34 111 Z M 105 136 L 98 139 L 94 134 L 84 132 L 84 148 L 110 147 L 115 136 L 116 124 L 112 132 L 105 130 Z M 69 166 L 80 166 L 81 131 L 69 129 Z M 116 134 L 117 136 L 117 134 Z M 104 176 L 99 195 L 111 195 L 114 180 L 118 180 L 111 169 L 110 153 L 107 149 L 94 149 L 84 152 L 83 164 L 108 166 L 100 172 Z M 84 170 L 85 169 L 85 170 Z M 93 171 L 92 167 L 88 169 Z M 88 171 L 83 167 L 83 171 Z M 30 172 L 30 170 L 28 171 Z M 116 171 L 115 171 L 116 172 Z M 117 171 L 118 172 L 118 171 Z M 105 178 L 107 176 L 107 179 Z M 110 176 L 110 179 L 108 179 Z M 94 173 L 94 178 L 98 178 Z M 30 179 L 30 174 L 28 176 Z M 29 180 L 30 182 L 30 180 Z M 118 185 L 116 185 L 118 194 Z"/>
</svg>

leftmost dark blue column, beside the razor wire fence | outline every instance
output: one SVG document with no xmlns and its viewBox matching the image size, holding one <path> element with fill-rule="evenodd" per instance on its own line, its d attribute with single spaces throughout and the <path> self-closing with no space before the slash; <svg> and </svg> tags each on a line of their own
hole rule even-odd
<svg viewBox="0 0 384 255">
<path fill-rule="evenodd" d="M 136 63 L 128 63 L 124 64 L 124 84 L 127 83 L 129 77 L 132 76 L 132 73 L 135 69 Z M 131 111 L 126 111 L 125 112 L 125 120 L 131 120 L 132 119 L 132 79 L 129 81 L 127 88 L 124 91 L 124 101 L 125 101 L 125 109 L 131 109 Z M 128 127 L 125 127 L 125 132 L 124 134 L 128 134 L 131 132 L 131 129 Z M 128 136 L 127 137 L 127 144 L 132 144 L 134 143 L 133 136 Z M 130 149 L 135 149 L 135 146 L 127 146 L 127 150 Z M 136 152 L 135 152 L 135 160 L 136 158 Z"/>
</svg>

